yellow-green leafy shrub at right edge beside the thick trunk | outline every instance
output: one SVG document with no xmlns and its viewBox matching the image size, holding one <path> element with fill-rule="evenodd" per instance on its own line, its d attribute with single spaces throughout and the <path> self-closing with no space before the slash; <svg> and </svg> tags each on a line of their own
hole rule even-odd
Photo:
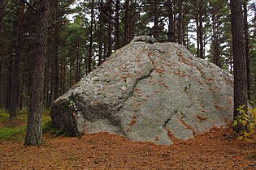
<svg viewBox="0 0 256 170">
<path fill-rule="evenodd" d="M 238 138 L 256 138 L 256 107 L 248 108 L 247 112 L 245 112 L 245 105 L 242 105 L 236 108 L 236 111 L 238 111 L 238 114 L 233 126 L 245 127 L 245 130 L 240 132 Z"/>
</svg>

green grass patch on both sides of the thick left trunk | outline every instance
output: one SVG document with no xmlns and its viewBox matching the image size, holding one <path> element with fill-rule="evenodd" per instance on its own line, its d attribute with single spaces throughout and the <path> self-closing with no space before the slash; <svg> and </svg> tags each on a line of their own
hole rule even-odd
<svg viewBox="0 0 256 170">
<path fill-rule="evenodd" d="M 11 121 L 9 121 L 9 113 L 3 109 L 0 109 L 0 141 L 24 140 L 27 120 L 28 112 L 27 110 L 23 109 L 17 114 L 17 121 L 21 122 L 20 125 L 9 125 L 11 124 Z M 44 110 L 42 121 L 43 127 L 50 125 L 50 110 Z"/>
</svg>

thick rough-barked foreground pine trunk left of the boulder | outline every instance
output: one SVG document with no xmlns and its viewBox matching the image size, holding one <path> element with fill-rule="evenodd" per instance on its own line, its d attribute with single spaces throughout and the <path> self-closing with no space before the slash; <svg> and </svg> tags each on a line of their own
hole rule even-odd
<svg viewBox="0 0 256 170">
<path fill-rule="evenodd" d="M 31 71 L 31 91 L 28 108 L 28 125 L 25 145 L 40 145 L 42 138 L 43 88 L 45 79 L 47 47 L 47 13 L 49 0 L 38 1 L 35 43 L 33 47 L 33 69 Z"/>
</svg>

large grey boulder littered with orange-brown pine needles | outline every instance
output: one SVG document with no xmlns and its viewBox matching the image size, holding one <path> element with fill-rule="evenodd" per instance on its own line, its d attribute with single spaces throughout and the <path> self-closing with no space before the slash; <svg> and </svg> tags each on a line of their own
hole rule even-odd
<svg viewBox="0 0 256 170">
<path fill-rule="evenodd" d="M 183 45 L 134 38 L 54 101 L 54 125 L 171 144 L 232 120 L 232 74 Z"/>
</svg>

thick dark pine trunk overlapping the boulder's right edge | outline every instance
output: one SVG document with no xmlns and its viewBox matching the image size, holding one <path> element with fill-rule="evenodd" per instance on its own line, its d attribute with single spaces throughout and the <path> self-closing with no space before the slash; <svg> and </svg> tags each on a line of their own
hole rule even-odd
<svg viewBox="0 0 256 170">
<path fill-rule="evenodd" d="M 243 11 L 241 0 L 231 0 L 231 26 L 232 26 L 232 55 L 234 60 L 234 114 L 233 118 L 239 114 L 236 111 L 241 105 L 247 106 L 247 66 L 245 57 L 245 32 L 243 23 Z M 246 109 L 246 107 L 245 107 Z M 236 132 L 245 130 L 240 124 L 234 127 Z"/>
</svg>

